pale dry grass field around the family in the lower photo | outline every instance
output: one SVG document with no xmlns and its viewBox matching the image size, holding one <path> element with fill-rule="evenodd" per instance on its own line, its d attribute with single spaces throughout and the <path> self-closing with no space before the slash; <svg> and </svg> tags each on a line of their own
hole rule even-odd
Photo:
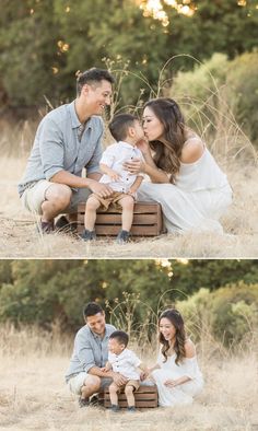
<svg viewBox="0 0 258 431">
<path fill-rule="evenodd" d="M 4 336 L 5 331 L 5 336 Z M 258 429 L 257 360 L 254 352 L 239 357 L 211 354 L 199 349 L 206 378 L 202 394 L 189 407 L 159 408 L 112 415 L 101 407 L 79 409 L 63 375 L 69 364 L 71 340 L 46 337 L 36 329 L 21 333 L 2 328 L 1 430 L 150 430 L 255 431 Z M 4 348 L 3 348 L 4 347 Z M 155 358 L 149 356 L 149 364 Z"/>
</svg>

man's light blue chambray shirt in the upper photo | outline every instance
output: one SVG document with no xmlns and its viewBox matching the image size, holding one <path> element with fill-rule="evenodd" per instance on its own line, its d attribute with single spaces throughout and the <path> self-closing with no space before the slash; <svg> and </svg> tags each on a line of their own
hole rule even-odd
<svg viewBox="0 0 258 431">
<path fill-rule="evenodd" d="M 59 171 L 77 176 L 99 172 L 102 156 L 103 119 L 92 116 L 80 139 L 81 123 L 74 101 L 48 113 L 40 121 L 25 173 L 17 186 L 20 196 L 39 179 L 50 179 Z"/>
</svg>

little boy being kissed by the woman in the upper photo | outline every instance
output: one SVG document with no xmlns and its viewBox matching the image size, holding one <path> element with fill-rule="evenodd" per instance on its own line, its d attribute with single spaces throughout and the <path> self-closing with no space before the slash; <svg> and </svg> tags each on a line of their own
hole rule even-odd
<svg viewBox="0 0 258 431">
<path fill-rule="evenodd" d="M 134 199 L 143 179 L 142 174 L 131 175 L 125 171 L 124 163 L 132 159 L 143 161 L 137 142 L 144 138 L 144 132 L 137 117 L 130 114 L 116 115 L 109 124 L 109 130 L 117 142 L 107 147 L 102 155 L 99 167 L 104 175 L 99 182 L 108 184 L 114 193 L 105 198 L 101 198 L 96 194 L 89 197 L 84 219 L 85 231 L 81 237 L 84 241 L 95 240 L 96 210 L 99 207 L 108 209 L 113 203 L 122 209 L 121 231 L 118 233 L 117 243 L 124 244 L 129 241 Z"/>
</svg>

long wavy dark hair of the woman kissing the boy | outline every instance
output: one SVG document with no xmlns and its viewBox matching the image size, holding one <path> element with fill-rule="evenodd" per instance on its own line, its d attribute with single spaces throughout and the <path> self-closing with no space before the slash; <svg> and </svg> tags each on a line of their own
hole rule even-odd
<svg viewBox="0 0 258 431">
<path fill-rule="evenodd" d="M 164 140 L 150 142 L 154 151 L 153 160 L 157 167 L 171 174 L 171 183 L 174 184 L 180 167 L 181 149 L 186 141 L 185 119 L 173 98 L 152 98 L 144 104 L 143 108 L 145 107 L 150 107 L 164 126 Z"/>
</svg>

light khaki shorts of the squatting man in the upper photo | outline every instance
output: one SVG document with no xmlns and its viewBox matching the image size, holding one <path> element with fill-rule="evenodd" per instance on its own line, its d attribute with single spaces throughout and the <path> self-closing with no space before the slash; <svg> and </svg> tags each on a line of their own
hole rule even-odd
<svg viewBox="0 0 258 431">
<path fill-rule="evenodd" d="M 30 212 L 42 215 L 42 205 L 46 200 L 46 193 L 54 184 L 47 179 L 40 179 L 32 187 L 26 188 L 21 197 L 23 207 Z M 89 188 L 72 190 L 70 205 L 63 210 L 63 213 L 77 212 L 78 203 L 85 202 L 90 195 L 91 190 Z"/>
</svg>

